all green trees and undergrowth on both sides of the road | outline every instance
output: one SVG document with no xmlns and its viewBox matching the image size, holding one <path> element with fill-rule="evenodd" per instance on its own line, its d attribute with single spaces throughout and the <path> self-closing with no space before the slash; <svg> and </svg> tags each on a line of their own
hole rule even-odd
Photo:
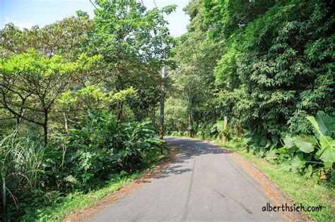
<svg viewBox="0 0 335 222">
<path fill-rule="evenodd" d="M 95 5 L 94 18 L 0 30 L 4 221 L 51 218 L 164 154 L 162 85 L 165 134 L 238 141 L 334 189 L 334 1 L 192 0 L 177 38 L 165 20 L 175 6 Z"/>
</svg>

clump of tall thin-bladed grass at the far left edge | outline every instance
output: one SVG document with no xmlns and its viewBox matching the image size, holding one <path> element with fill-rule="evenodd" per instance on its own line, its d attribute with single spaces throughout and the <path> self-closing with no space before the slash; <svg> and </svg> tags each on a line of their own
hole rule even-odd
<svg viewBox="0 0 335 222">
<path fill-rule="evenodd" d="M 44 147 L 31 136 L 18 137 L 15 131 L 0 141 L 1 202 L 4 215 L 8 202 L 18 208 L 17 195 L 34 190 L 39 181 Z"/>
</svg>

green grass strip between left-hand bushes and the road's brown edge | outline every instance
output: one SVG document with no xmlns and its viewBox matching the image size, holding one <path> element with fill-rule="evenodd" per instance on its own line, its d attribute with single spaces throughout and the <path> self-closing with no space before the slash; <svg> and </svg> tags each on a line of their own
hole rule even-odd
<svg viewBox="0 0 335 222">
<path fill-rule="evenodd" d="M 158 154 L 158 152 L 156 153 Z M 147 173 L 151 170 L 151 168 L 155 167 L 158 162 L 164 159 L 169 152 L 164 152 L 164 154 L 158 155 L 147 155 L 145 161 L 145 167 L 141 171 L 136 171 L 129 175 L 124 175 L 121 179 L 117 181 L 108 181 L 105 186 L 98 190 L 90 191 L 86 194 L 83 192 L 71 192 L 66 197 L 61 197 L 54 202 L 50 206 L 41 207 L 40 209 L 36 209 L 35 212 L 32 212 L 31 217 L 25 217 L 23 220 L 30 219 L 34 220 L 37 218 L 37 221 L 61 221 L 62 219 L 71 216 L 78 211 L 86 209 L 88 206 L 96 204 L 103 197 L 110 195 L 112 192 L 119 190 L 131 183 L 131 181 L 139 178 L 141 175 Z"/>
</svg>

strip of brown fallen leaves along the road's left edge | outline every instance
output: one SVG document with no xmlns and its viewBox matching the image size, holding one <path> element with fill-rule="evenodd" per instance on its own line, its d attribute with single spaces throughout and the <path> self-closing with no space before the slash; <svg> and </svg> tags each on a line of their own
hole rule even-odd
<svg viewBox="0 0 335 222">
<path fill-rule="evenodd" d="M 150 181 L 162 171 L 162 169 L 170 164 L 171 160 L 175 158 L 178 153 L 177 147 L 172 146 L 171 144 L 167 144 L 170 147 L 170 154 L 169 156 L 165 157 L 161 161 L 158 162 L 157 166 L 152 168 L 148 173 L 141 175 L 136 180 L 131 181 L 131 183 L 121 187 L 116 192 L 112 192 L 110 195 L 102 198 L 98 203 L 88 206 L 88 208 L 78 211 L 72 214 L 69 217 L 64 218 L 62 221 L 85 221 L 87 218 L 90 218 L 94 214 L 97 214 L 99 211 L 104 209 L 107 205 L 112 204 L 113 202 L 121 199 L 125 195 L 133 192 L 134 190 L 138 189 L 142 185 L 146 183 L 150 183 Z"/>
</svg>

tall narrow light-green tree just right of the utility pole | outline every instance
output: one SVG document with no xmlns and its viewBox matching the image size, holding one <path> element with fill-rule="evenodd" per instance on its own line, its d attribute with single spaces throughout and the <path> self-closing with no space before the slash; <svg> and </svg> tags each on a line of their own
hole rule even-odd
<svg viewBox="0 0 335 222">
<path fill-rule="evenodd" d="M 187 34 L 178 39 L 172 60 L 178 65 L 172 76 L 172 97 L 182 99 L 187 107 L 187 125 L 203 121 L 216 121 L 214 109 L 207 104 L 214 97 L 213 69 L 221 57 L 222 49 L 208 37 L 204 26 L 204 5 L 202 1 L 192 1 L 185 11 L 191 17 Z M 172 108 L 168 108 L 172 109 Z M 195 123 L 194 123 L 195 122 Z"/>
</svg>

